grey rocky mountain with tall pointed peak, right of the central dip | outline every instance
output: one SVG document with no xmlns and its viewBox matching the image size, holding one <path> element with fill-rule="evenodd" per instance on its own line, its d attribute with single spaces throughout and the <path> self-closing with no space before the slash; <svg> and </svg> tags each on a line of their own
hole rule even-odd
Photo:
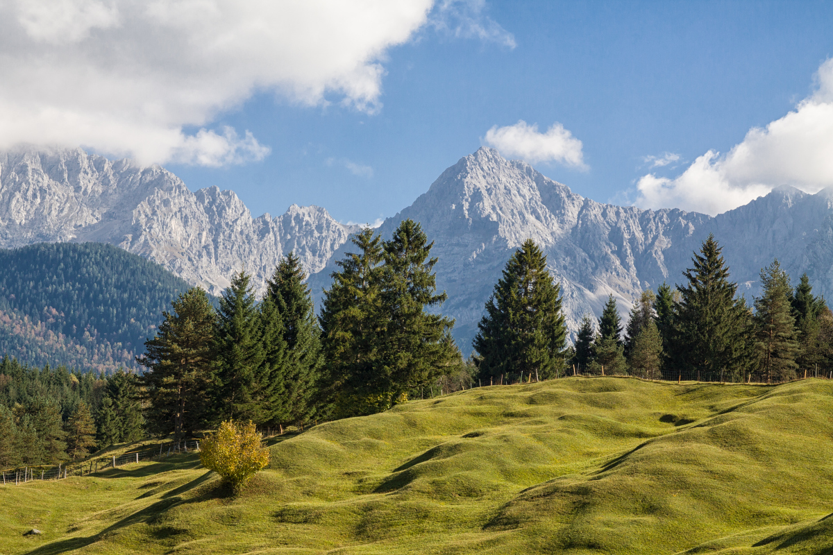
<svg viewBox="0 0 833 555">
<path fill-rule="evenodd" d="M 481 148 L 444 171 L 380 231 L 389 237 L 400 221 L 411 218 L 435 241 L 437 284 L 448 293 L 441 310 L 456 318 L 455 336 L 467 351 L 506 260 L 527 238 L 541 246 L 561 282 L 567 324 L 575 331 L 582 315 L 601 314 L 608 295 L 616 297 L 626 318 L 642 290 L 656 290 L 663 281 L 681 283 L 692 252 L 709 233 L 725 245 L 741 291 L 755 294 L 761 267 L 775 257 L 794 279 L 806 271 L 817 291 L 833 290 L 831 206 L 827 191 L 808 195 L 791 187 L 716 217 L 614 206 Z M 334 260 L 350 246 L 342 245 Z M 312 276 L 313 290 L 327 287 L 334 269 L 331 260 Z"/>
</svg>

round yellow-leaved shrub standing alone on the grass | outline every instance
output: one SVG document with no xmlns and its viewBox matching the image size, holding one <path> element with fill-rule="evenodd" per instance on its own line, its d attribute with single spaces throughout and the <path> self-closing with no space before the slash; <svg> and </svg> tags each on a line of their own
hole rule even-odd
<svg viewBox="0 0 833 555">
<path fill-rule="evenodd" d="M 240 491 L 252 476 L 269 463 L 255 425 L 223 421 L 217 432 L 200 442 L 202 466 L 220 474 L 234 491 Z"/>
</svg>

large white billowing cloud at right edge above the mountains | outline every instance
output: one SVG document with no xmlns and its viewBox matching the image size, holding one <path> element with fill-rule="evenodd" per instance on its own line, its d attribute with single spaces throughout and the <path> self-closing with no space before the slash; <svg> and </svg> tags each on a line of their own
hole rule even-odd
<svg viewBox="0 0 833 555">
<path fill-rule="evenodd" d="M 753 127 L 725 155 L 708 151 L 674 178 L 641 177 L 636 205 L 715 215 L 782 185 L 809 193 L 833 186 L 833 59 L 819 67 L 810 97 L 765 128 Z"/>
</svg>

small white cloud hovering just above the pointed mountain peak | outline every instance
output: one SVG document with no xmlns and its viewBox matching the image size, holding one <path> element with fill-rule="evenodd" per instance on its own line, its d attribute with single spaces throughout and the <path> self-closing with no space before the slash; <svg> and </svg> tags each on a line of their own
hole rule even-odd
<svg viewBox="0 0 833 555">
<path fill-rule="evenodd" d="M 520 120 L 513 126 L 492 126 L 486 131 L 486 144 L 504 156 L 522 158 L 531 164 L 556 161 L 565 166 L 586 169 L 581 141 L 572 136 L 561 123 L 553 123 L 546 133 L 538 125 Z"/>
</svg>

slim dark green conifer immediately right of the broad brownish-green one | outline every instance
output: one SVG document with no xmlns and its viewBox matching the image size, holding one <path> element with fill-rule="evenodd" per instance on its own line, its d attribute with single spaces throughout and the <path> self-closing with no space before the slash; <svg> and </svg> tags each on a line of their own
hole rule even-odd
<svg viewBox="0 0 833 555">
<path fill-rule="evenodd" d="M 262 407 L 257 403 L 263 363 L 261 318 L 250 279 L 244 270 L 237 272 L 220 299 L 214 332 L 215 419 L 262 421 Z"/>
</svg>

